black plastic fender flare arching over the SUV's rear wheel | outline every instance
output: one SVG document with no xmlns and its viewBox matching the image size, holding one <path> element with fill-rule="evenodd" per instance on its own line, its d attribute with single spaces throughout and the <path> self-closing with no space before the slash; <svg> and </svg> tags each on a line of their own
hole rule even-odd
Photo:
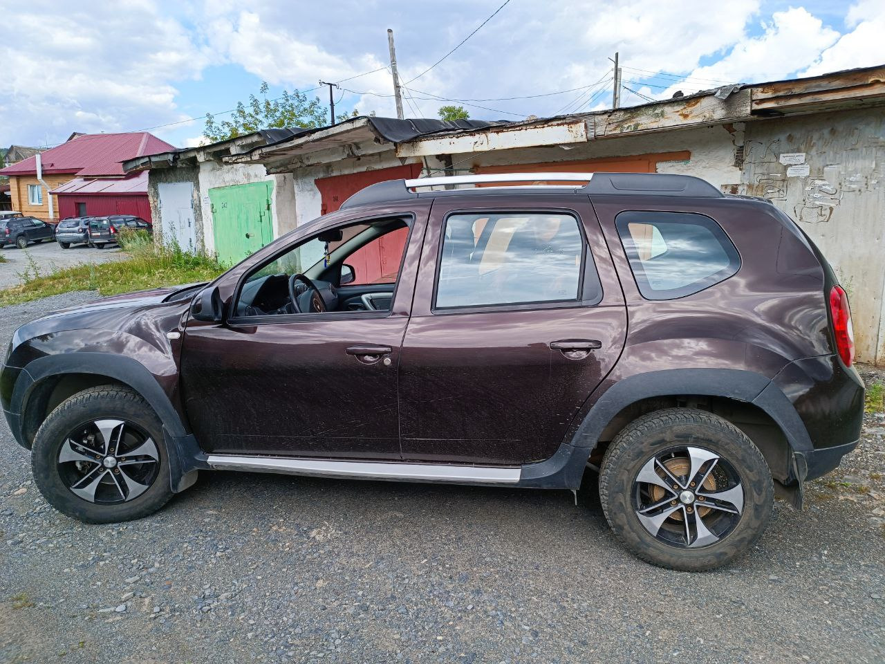
<svg viewBox="0 0 885 664">
<path fill-rule="evenodd" d="M 791 452 L 812 450 L 811 437 L 796 408 L 772 379 L 740 369 L 666 369 L 630 376 L 605 390 L 570 441 L 560 444 L 549 459 L 522 467 L 517 486 L 578 489 L 587 459 L 615 415 L 645 398 L 681 394 L 732 398 L 756 405 L 781 428 Z"/>
</svg>

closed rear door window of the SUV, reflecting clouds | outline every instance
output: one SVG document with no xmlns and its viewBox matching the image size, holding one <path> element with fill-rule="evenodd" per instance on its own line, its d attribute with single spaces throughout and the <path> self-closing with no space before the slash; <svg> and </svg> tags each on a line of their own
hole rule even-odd
<svg viewBox="0 0 885 664">
<path fill-rule="evenodd" d="M 571 214 L 452 214 L 443 229 L 435 308 L 577 302 L 584 255 Z"/>
</svg>

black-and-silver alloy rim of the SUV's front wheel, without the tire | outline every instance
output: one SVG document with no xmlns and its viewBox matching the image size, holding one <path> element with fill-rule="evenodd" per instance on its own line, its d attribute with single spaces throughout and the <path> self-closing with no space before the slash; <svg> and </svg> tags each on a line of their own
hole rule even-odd
<svg viewBox="0 0 885 664">
<path fill-rule="evenodd" d="M 90 503 L 134 500 L 157 480 L 157 444 L 123 420 L 96 420 L 73 429 L 58 451 L 58 474 L 68 490 Z"/>
</svg>

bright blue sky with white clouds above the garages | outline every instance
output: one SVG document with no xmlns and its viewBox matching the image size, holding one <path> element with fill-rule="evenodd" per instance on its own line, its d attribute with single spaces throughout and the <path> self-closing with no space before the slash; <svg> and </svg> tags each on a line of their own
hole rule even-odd
<svg viewBox="0 0 885 664">
<path fill-rule="evenodd" d="M 489 19 L 503 3 L 0 0 L 0 145 L 149 130 L 189 147 L 262 81 L 323 104 L 318 82 L 341 81 L 336 114 L 396 117 L 388 28 L 407 118 L 610 108 L 616 51 L 621 105 L 885 64 L 882 0 L 510 0 Z"/>
</svg>

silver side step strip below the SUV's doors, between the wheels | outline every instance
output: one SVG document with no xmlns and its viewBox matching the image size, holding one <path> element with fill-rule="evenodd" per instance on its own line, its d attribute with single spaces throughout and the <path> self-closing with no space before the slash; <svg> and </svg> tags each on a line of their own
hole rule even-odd
<svg viewBox="0 0 885 664">
<path fill-rule="evenodd" d="M 210 467 L 217 470 L 452 484 L 515 484 L 519 482 L 521 473 L 518 467 L 437 466 L 423 463 L 329 461 L 232 454 L 210 454 L 206 460 Z"/>
</svg>

